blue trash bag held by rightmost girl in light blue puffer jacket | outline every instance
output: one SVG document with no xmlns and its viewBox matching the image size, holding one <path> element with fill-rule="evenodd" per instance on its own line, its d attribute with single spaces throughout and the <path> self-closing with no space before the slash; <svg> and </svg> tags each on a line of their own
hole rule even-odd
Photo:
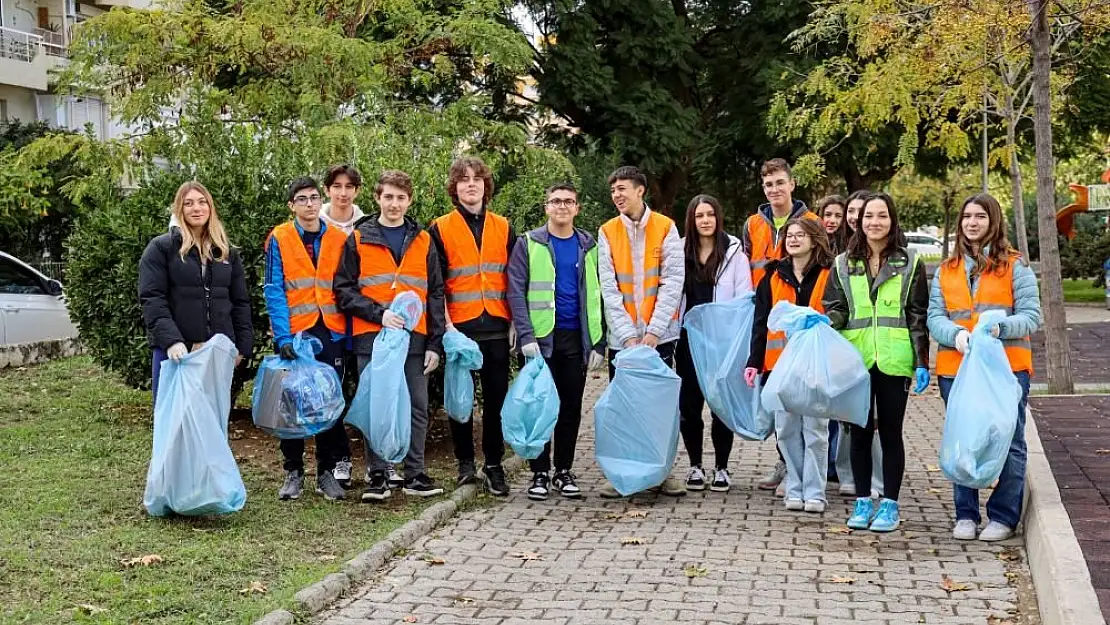
<svg viewBox="0 0 1110 625">
<path fill-rule="evenodd" d="M 1010 370 L 1002 342 L 990 335 L 990 326 L 1005 316 L 1002 311 L 980 315 L 971 350 L 948 393 L 940 471 L 968 488 L 986 488 L 998 480 L 1018 425 L 1021 384 Z"/>
</svg>

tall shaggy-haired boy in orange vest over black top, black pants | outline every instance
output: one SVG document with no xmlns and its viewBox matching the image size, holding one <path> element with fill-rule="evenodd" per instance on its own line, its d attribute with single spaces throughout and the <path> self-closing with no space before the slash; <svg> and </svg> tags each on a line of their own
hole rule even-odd
<svg viewBox="0 0 1110 625">
<path fill-rule="evenodd" d="M 501 461 L 505 438 L 501 409 L 508 393 L 512 314 L 508 310 L 508 259 L 516 232 L 505 218 L 487 210 L 493 174 L 482 159 L 464 157 L 451 165 L 447 193 L 454 210 L 428 228 L 446 280 L 447 324 L 477 342 L 482 350 L 482 471 L 486 490 L 508 495 Z M 450 420 L 458 461 L 460 486 L 477 480 L 474 466 L 474 420 Z"/>
</svg>

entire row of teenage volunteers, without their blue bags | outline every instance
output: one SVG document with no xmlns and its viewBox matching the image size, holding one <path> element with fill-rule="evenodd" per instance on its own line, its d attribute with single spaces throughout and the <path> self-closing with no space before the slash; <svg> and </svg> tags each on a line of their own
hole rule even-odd
<svg viewBox="0 0 1110 625">
<path fill-rule="evenodd" d="M 929 335 L 939 343 L 937 375 L 942 396 L 971 349 L 969 331 L 987 310 L 1007 316 L 991 332 L 1002 340 L 1013 374 L 1028 393 L 1032 373 L 1029 336 L 1040 323 L 1032 272 L 1006 239 L 998 202 L 988 194 L 962 205 L 951 258 L 931 288 L 922 259 L 908 249 L 894 200 L 857 191 L 829 196 L 811 212 L 794 199 L 785 160 L 761 169 L 767 203 L 747 219 L 740 238 L 725 232 L 725 211 L 710 195 L 687 206 L 685 238 L 675 222 L 645 202 L 645 175 L 622 167 L 608 178 L 617 215 L 595 235 L 577 228 L 578 194 L 568 183 L 545 192 L 544 225 L 517 235 L 488 210 L 494 184 L 478 158 L 456 160 L 447 175 L 452 206 L 425 229 L 407 212 L 412 179 L 384 171 L 373 189 L 376 214 L 355 204 L 362 177 L 351 165 L 327 170 L 323 185 L 311 178 L 287 190 L 292 220 L 265 242 L 264 295 L 274 349 L 295 359 L 293 336 L 304 332 L 323 344 L 316 359 L 341 377 L 371 361 L 384 327 L 404 329 L 389 310 L 403 291 L 416 293 L 424 312 L 411 330 L 404 374 L 412 399 L 412 440 L 402 473 L 366 444 L 362 501 L 389 498 L 394 490 L 431 496 L 443 488 L 424 465 L 428 427 L 427 376 L 443 361 L 443 335 L 455 330 L 474 340 L 483 356 L 475 376 L 482 387 L 482 452 L 477 470 L 474 421 L 451 423 L 457 485 L 480 480 L 493 495 L 509 492 L 502 467 L 501 411 L 514 355 L 543 357 L 559 396 L 552 441 L 531 461 L 526 494 L 581 497 L 573 473 L 587 371 L 622 350 L 656 350 L 682 379 L 680 432 L 690 466 L 685 480 L 658 486 L 664 495 L 730 488 L 734 435 L 712 415 L 714 465 L 703 464 L 705 400 L 697 382 L 683 317 L 694 306 L 753 296 L 751 350 L 737 384 L 766 381 L 788 337 L 767 327 L 778 302 L 808 305 L 852 345 L 870 372 L 871 411 L 864 427 L 779 412 L 775 434 L 779 462 L 758 487 L 777 490 L 787 510 L 823 513 L 828 481 L 855 495 L 848 525 L 889 532 L 900 523 L 898 500 L 906 454 L 902 424 L 910 386 L 929 384 Z M 327 203 L 324 200 L 329 200 Z M 216 333 L 251 354 L 250 299 L 238 252 L 216 215 L 209 191 L 183 184 L 173 201 L 171 228 L 150 242 L 140 263 L 139 296 L 153 350 L 155 385 L 161 364 L 178 360 Z M 1025 401 L 1002 474 L 987 504 L 981 533 L 976 491 L 956 487 L 953 535 L 1002 540 L 1020 518 L 1026 450 Z M 878 435 L 876 435 L 876 432 Z M 833 442 L 830 442 L 833 441 Z M 342 420 L 315 437 L 316 493 L 346 496 L 352 486 L 350 442 Z M 304 481 L 304 442 L 283 440 L 285 478 L 279 496 L 295 500 Z M 619 497 L 604 485 L 603 497 Z M 876 502 L 878 500 L 878 502 Z M 876 505 L 877 503 L 877 505 Z"/>
</svg>

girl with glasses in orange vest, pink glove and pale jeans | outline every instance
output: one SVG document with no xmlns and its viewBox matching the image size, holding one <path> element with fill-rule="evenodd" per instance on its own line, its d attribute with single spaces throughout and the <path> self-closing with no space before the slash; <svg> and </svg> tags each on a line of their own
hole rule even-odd
<svg viewBox="0 0 1110 625">
<path fill-rule="evenodd" d="M 786 347 L 786 333 L 767 329 L 767 319 L 775 304 L 790 302 L 825 312 L 823 298 L 834 258 L 828 235 L 820 222 L 809 219 L 790 220 L 785 231 L 784 258 L 767 265 L 767 275 L 756 288 L 751 353 L 744 370 L 744 381 L 748 386 L 755 386 L 756 376 L 760 374 L 763 381 L 767 381 Z M 828 422 L 781 411 L 775 413 L 775 435 L 786 463 L 786 510 L 825 512 Z"/>
</svg>

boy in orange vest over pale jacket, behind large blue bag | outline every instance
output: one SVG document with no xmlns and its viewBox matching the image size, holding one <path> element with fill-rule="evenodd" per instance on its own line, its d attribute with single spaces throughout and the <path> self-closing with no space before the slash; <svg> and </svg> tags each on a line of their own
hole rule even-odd
<svg viewBox="0 0 1110 625">
<path fill-rule="evenodd" d="M 636 345 L 654 347 L 667 365 L 675 361 L 679 335 L 678 306 L 686 278 L 686 254 L 670 218 L 644 203 L 647 178 L 634 167 L 609 175 L 613 203 L 620 213 L 602 226 L 597 236 L 597 273 L 608 326 L 609 380 L 613 359 Z M 686 494 L 686 486 L 667 477 L 665 495 Z M 620 494 L 606 484 L 601 496 Z"/>
</svg>

